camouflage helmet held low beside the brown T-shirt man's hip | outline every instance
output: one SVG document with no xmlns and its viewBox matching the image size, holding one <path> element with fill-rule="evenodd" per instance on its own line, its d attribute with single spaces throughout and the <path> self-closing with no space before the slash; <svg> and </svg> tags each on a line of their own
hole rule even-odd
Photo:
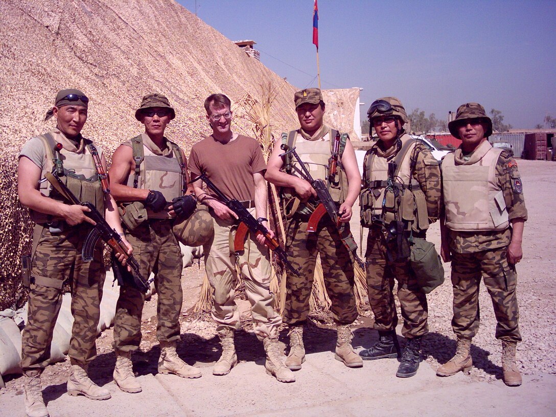
<svg viewBox="0 0 556 417">
<path fill-rule="evenodd" d="M 177 219 L 172 231 L 183 245 L 192 247 L 204 245 L 214 236 L 212 216 L 205 205 L 199 204 L 187 219 Z"/>
</svg>

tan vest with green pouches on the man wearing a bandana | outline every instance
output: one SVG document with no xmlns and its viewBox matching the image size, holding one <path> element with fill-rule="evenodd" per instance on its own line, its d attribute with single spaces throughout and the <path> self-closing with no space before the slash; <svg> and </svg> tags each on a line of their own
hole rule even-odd
<svg viewBox="0 0 556 417">
<path fill-rule="evenodd" d="M 95 161 L 93 161 L 92 157 L 92 152 L 96 151 L 96 147 L 93 145 L 92 141 L 83 138 L 82 148 L 78 149 L 77 152 L 71 152 L 66 150 L 66 147 L 72 146 L 71 142 L 61 133 L 48 132 L 38 136 L 38 138 L 42 140 L 44 150 L 46 151 L 46 163 L 42 168 L 41 177 L 44 177 L 45 172 L 52 172 L 55 163 L 54 146 L 56 146 L 58 142 L 62 143 L 64 147 L 59 153 L 64 175 L 61 177 L 61 180 L 66 183 L 69 190 L 71 190 L 80 201 L 93 203 L 97 210 L 103 213 L 104 194 L 102 192 L 101 183 L 98 180 Z M 101 152 L 99 152 L 99 157 L 101 157 Z M 48 181 L 40 183 L 39 191 L 41 191 L 43 195 L 53 198 L 53 200 L 67 204 L 67 201 L 57 193 L 51 195 L 51 186 Z M 47 215 L 35 210 L 29 210 L 29 215 L 31 216 L 31 220 L 41 225 L 50 223 L 53 220 L 61 220 L 54 218 L 52 215 Z"/>
</svg>

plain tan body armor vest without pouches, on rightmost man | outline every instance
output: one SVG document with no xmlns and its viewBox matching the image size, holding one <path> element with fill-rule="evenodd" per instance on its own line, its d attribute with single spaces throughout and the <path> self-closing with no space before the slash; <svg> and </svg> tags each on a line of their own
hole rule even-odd
<svg viewBox="0 0 556 417">
<path fill-rule="evenodd" d="M 496 180 L 500 153 L 502 149 L 484 141 L 465 163 L 456 163 L 454 153 L 444 157 L 442 179 L 448 229 L 500 231 L 508 228 L 504 192 Z"/>
</svg>

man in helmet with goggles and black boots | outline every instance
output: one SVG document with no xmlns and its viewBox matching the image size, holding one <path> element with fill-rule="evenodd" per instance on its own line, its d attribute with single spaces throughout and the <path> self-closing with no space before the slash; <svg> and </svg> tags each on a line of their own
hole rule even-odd
<svg viewBox="0 0 556 417">
<path fill-rule="evenodd" d="M 379 137 L 365 155 L 361 224 L 369 227 L 366 262 L 369 302 L 379 341 L 359 353 L 365 360 L 399 356 L 394 279 L 408 340 L 396 376 L 416 374 L 421 337 L 428 332 L 426 295 L 410 268 L 409 242 L 424 238 L 438 219 L 440 170 L 430 151 L 403 130 L 405 108 L 395 97 L 383 97 L 369 108 L 369 121 Z"/>
</svg>

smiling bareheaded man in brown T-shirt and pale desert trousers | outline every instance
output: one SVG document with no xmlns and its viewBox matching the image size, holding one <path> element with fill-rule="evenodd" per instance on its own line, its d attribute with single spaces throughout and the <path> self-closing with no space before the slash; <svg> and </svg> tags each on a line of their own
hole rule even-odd
<svg viewBox="0 0 556 417">
<path fill-rule="evenodd" d="M 211 95 L 205 100 L 212 135 L 193 145 L 189 166 L 191 175 L 195 180 L 205 173 L 227 198 L 241 201 L 268 229 L 267 192 L 263 176 L 265 160 L 255 139 L 231 131 L 230 105 L 230 99 L 222 94 Z M 265 347 L 266 371 L 281 382 L 295 381 L 293 373 L 284 365 L 284 353 L 278 345 L 278 327 L 282 319 L 273 308 L 269 251 L 264 245 L 264 237 L 249 234 L 244 250 L 232 253 L 230 237 L 235 234 L 236 214 L 214 193 L 205 192 L 202 181 L 196 181 L 193 187 L 198 201 L 209 206 L 214 219 L 214 238 L 205 246 L 205 267 L 214 289 L 212 318 L 217 323 L 222 356 L 212 373 L 226 375 L 237 364 L 234 347 L 234 330 L 240 327 L 239 312 L 234 302 L 237 263 L 245 280 L 247 299 L 251 303 L 253 329 Z"/>
</svg>

